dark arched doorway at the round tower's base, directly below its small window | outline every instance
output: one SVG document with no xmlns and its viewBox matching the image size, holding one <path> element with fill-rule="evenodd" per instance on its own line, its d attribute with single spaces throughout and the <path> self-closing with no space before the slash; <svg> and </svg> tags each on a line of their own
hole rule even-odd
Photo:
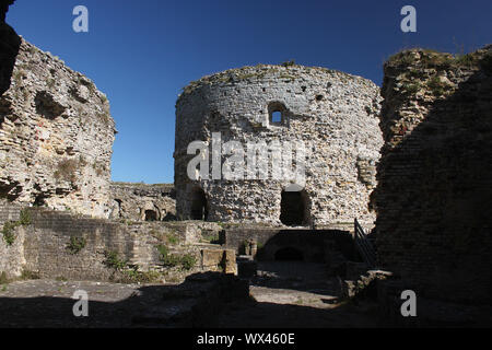
<svg viewBox="0 0 492 350">
<path fill-rule="evenodd" d="M 307 223 L 306 195 L 304 191 L 282 191 L 280 221 L 288 226 Z"/>
</svg>

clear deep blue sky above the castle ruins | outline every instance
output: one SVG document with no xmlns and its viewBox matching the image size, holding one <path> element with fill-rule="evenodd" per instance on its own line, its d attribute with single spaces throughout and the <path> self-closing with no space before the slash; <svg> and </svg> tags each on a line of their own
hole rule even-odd
<svg viewBox="0 0 492 350">
<path fill-rule="evenodd" d="M 89 33 L 72 10 L 89 9 Z M 417 9 L 417 33 L 400 9 Z M 492 1 L 16 0 L 7 22 L 107 94 L 117 135 L 113 179 L 172 183 L 175 102 L 202 75 L 257 63 L 321 66 L 380 85 L 405 47 L 465 52 L 492 43 Z"/>
</svg>

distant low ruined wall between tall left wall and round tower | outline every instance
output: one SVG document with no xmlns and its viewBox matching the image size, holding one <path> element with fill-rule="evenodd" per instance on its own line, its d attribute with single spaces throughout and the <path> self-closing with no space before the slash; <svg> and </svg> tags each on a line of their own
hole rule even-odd
<svg viewBox="0 0 492 350">
<path fill-rule="evenodd" d="M 173 184 L 112 183 L 113 219 L 163 221 L 176 218 Z"/>
</svg>

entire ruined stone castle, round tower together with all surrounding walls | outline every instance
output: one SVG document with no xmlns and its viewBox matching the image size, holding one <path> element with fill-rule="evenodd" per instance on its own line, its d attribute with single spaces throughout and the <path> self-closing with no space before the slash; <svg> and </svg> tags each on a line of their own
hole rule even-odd
<svg viewBox="0 0 492 350">
<path fill-rule="evenodd" d="M 490 305 L 492 46 L 402 51 L 382 89 L 292 62 L 203 77 L 176 103 L 175 182 L 155 185 L 110 182 L 115 121 L 90 79 L 3 21 L 0 49 L 0 283 L 213 271 L 248 295 L 261 259 L 302 260 L 340 298 L 376 283 L 399 320 L 407 289 L 453 317 Z M 208 305 L 219 284 L 173 293 Z"/>
</svg>

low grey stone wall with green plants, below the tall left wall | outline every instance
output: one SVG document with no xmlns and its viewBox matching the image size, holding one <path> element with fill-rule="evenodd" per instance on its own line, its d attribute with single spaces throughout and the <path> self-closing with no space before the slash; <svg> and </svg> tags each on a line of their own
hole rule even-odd
<svg viewBox="0 0 492 350">
<path fill-rule="evenodd" d="M 7 222 L 17 222 L 21 211 L 27 212 L 28 224 L 16 225 L 10 244 L 3 235 Z M 15 203 L 0 202 L 0 273 L 8 278 L 20 277 L 23 271 L 42 278 L 66 278 L 72 280 L 112 280 L 125 278 L 122 271 L 138 267 L 139 271 L 159 272 L 168 281 L 183 280 L 186 276 L 211 270 L 203 260 L 203 248 L 198 245 L 201 230 L 192 222 L 119 222 L 106 219 L 84 218 L 70 212 L 46 208 L 21 208 Z M 72 240 L 80 249 L 72 250 Z M 195 265 L 184 269 L 180 262 L 163 265 L 160 246 L 175 257 L 195 257 Z M 213 246 L 223 254 L 224 249 Z M 107 253 L 115 253 L 126 264 L 119 271 L 107 264 Z M 204 264 L 207 262 L 207 264 Z M 229 272 L 235 256 L 227 255 Z M 216 269 L 216 265 L 212 266 Z"/>
</svg>

